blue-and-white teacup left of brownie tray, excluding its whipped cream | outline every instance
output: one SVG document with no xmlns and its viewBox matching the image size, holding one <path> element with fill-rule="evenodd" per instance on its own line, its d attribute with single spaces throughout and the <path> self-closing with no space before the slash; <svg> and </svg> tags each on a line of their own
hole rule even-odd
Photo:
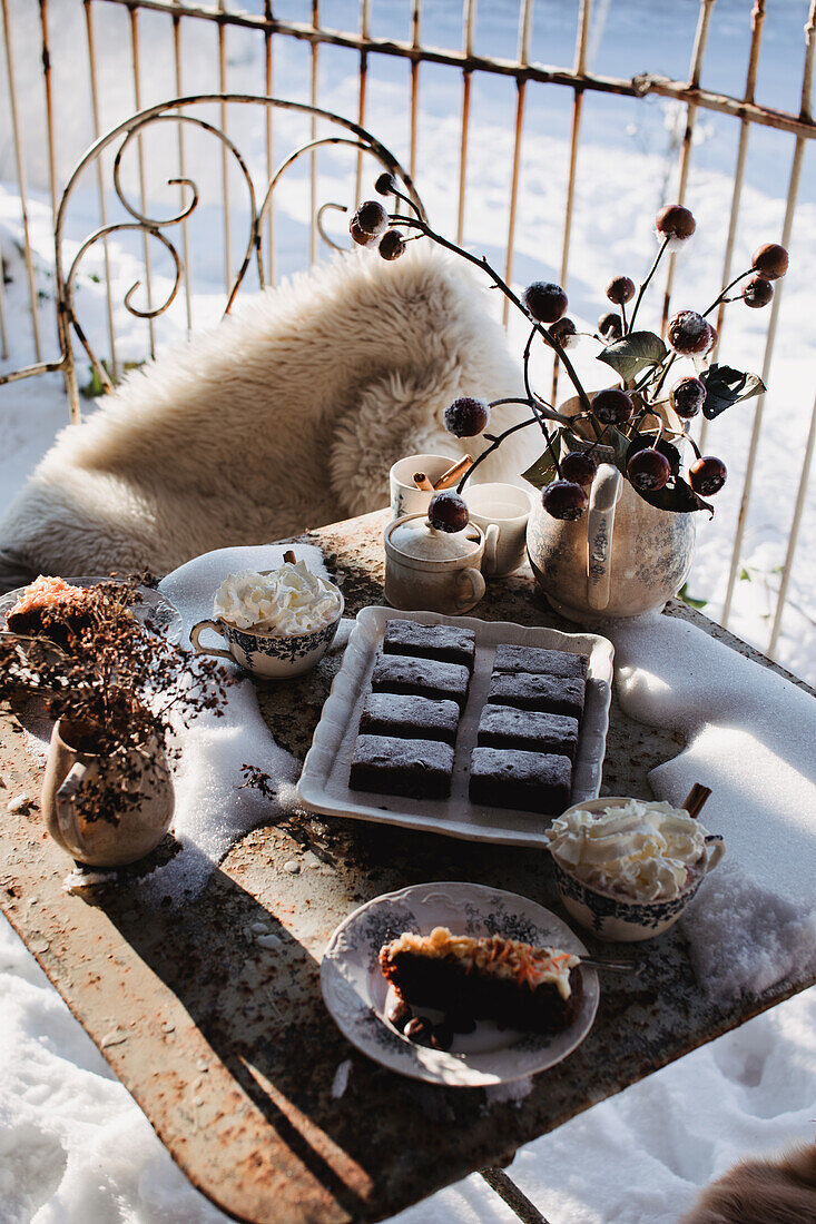
<svg viewBox="0 0 816 1224">
<path fill-rule="evenodd" d="M 240 663 L 252 676 L 260 679 L 285 681 L 294 676 L 304 676 L 323 657 L 337 633 L 343 616 L 343 595 L 334 588 L 338 597 L 337 616 L 328 624 L 321 624 L 308 633 L 273 634 L 256 633 L 254 629 L 239 629 L 223 617 L 214 621 L 198 621 L 190 630 L 192 649 L 197 655 L 217 655 Z M 198 638 L 205 629 L 219 634 L 229 650 L 217 646 L 202 646 Z"/>
</svg>

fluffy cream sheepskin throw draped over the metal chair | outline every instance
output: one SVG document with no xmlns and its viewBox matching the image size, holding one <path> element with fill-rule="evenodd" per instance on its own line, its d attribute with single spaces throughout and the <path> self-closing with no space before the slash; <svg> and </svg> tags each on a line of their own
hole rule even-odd
<svg viewBox="0 0 816 1224">
<path fill-rule="evenodd" d="M 462 261 L 412 242 L 396 263 L 352 252 L 247 299 L 59 435 L 0 520 L 0 586 L 164 574 L 377 509 L 402 455 L 475 455 L 485 444 L 446 433 L 445 408 L 521 387 L 485 297 Z M 494 424 L 515 420 L 508 406 Z M 516 480 L 535 447 L 527 435 L 477 475 Z"/>
</svg>

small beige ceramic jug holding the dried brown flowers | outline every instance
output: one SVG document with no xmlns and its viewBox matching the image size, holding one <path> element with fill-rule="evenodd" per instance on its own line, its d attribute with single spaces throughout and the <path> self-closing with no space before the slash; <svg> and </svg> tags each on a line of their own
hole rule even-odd
<svg viewBox="0 0 816 1224">
<path fill-rule="evenodd" d="M 124 867 L 149 854 L 170 827 L 175 808 L 173 778 L 163 749 L 156 739 L 130 754 L 129 777 L 123 785 L 141 794 L 138 805 L 127 807 L 118 824 L 86 820 L 82 813 L 82 783 L 107 759 L 72 747 L 81 742 L 76 728 L 60 718 L 51 742 L 43 780 L 43 815 L 54 841 L 71 858 L 88 867 Z M 148 767 L 149 765 L 149 767 Z"/>
</svg>

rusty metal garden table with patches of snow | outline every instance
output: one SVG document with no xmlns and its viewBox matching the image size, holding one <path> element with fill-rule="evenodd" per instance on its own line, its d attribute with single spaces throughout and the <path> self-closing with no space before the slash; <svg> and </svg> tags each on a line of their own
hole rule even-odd
<svg viewBox="0 0 816 1224">
<path fill-rule="evenodd" d="M 323 550 L 349 614 L 382 602 L 383 523 L 377 513 L 301 537 Z M 782 671 L 685 605 L 667 611 Z M 571 628 L 523 573 L 490 586 L 478 616 Z M 301 681 L 257 685 L 276 741 L 299 758 L 338 666 L 328 657 Z M 2 716 L 6 797 L 39 788 L 20 731 Z M 648 796 L 648 770 L 681 747 L 627 718 L 613 696 L 603 793 Z M 0 846 L 0 902 L 12 925 L 190 1181 L 259 1224 L 391 1215 L 507 1162 L 519 1144 L 810 984 L 788 979 L 731 1006 L 707 1000 L 675 928 L 642 946 L 640 978 L 604 979 L 595 1024 L 565 1062 L 523 1100 L 491 1103 L 483 1089 L 406 1080 L 354 1050 L 323 1006 L 321 952 L 358 905 L 423 880 L 490 884 L 557 911 L 545 853 L 295 813 L 235 845 L 180 912 L 143 912 L 126 873 L 96 905 L 66 895 L 65 856 L 36 807 L 4 814 Z M 274 946 L 247 938 L 257 922 Z M 348 1087 L 336 1095 L 346 1060 Z"/>
</svg>

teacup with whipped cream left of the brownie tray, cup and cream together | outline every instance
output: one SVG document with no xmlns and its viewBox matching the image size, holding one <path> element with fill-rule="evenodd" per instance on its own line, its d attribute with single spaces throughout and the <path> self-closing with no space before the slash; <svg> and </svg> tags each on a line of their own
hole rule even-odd
<svg viewBox="0 0 816 1224">
<path fill-rule="evenodd" d="M 213 601 L 212 619 L 190 630 L 194 650 L 240 663 L 263 679 L 303 676 L 322 659 L 343 614 L 339 588 L 309 569 L 305 561 L 288 559 L 277 569 L 228 574 Z M 228 650 L 201 645 L 213 629 Z"/>
</svg>

